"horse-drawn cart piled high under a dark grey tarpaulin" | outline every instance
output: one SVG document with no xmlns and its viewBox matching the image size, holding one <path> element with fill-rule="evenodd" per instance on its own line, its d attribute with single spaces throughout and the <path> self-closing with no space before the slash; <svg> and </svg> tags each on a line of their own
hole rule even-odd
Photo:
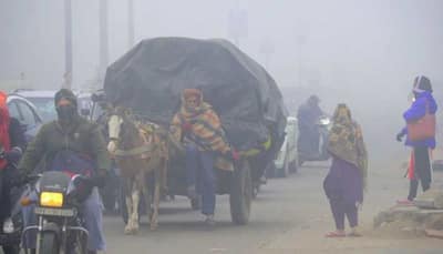
<svg viewBox="0 0 443 254">
<path fill-rule="evenodd" d="M 281 93 L 261 65 L 225 40 L 150 39 L 109 67 L 103 90 L 112 108 L 167 131 L 188 88 L 203 91 L 230 145 L 240 151 L 230 170 L 216 170 L 217 193 L 229 195 L 233 222 L 246 224 L 254 187 L 284 142 L 287 116 Z M 179 144 L 167 148 L 167 192 L 186 195 L 184 154 Z M 193 207 L 197 203 L 192 201 Z"/>
</svg>

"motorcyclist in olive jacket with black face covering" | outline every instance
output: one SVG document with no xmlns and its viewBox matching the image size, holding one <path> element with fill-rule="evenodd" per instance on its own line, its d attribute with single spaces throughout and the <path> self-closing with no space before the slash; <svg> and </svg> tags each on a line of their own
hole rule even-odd
<svg viewBox="0 0 443 254">
<path fill-rule="evenodd" d="M 87 177 L 91 194 L 83 202 L 82 214 L 89 231 L 87 250 L 105 248 L 102 228 L 102 204 L 97 187 L 105 184 L 110 159 L 100 128 L 79 115 L 74 93 L 68 89 L 56 92 L 58 120 L 41 128 L 29 144 L 19 169 L 29 174 L 41 162 L 44 171 L 69 171 Z M 68 173 L 68 172 L 66 172 Z M 35 223 L 32 207 L 23 207 L 24 223 Z M 25 225 L 27 226 L 27 225 Z M 27 237 L 25 246 L 35 247 L 35 237 Z"/>
</svg>

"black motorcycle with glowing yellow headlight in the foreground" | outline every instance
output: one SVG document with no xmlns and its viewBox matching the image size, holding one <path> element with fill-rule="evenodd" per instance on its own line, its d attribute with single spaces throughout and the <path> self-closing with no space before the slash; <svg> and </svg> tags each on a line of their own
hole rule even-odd
<svg viewBox="0 0 443 254">
<path fill-rule="evenodd" d="M 85 190 L 85 179 L 48 171 L 40 175 L 33 191 L 38 199 L 22 200 L 22 205 L 35 204 L 37 225 L 23 231 L 22 240 L 31 231 L 37 231 L 35 254 L 87 253 L 87 230 L 80 213 L 82 201 L 92 189 Z M 25 250 L 28 254 L 28 250 Z"/>
</svg>

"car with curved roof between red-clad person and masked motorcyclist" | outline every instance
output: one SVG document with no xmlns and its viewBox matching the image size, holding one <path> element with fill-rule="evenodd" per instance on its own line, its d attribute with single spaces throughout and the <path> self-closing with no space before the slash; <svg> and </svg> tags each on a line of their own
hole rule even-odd
<svg viewBox="0 0 443 254">
<path fill-rule="evenodd" d="M 29 100 L 17 94 L 9 94 L 7 104 L 10 115 L 23 126 L 27 141 L 31 141 L 43 124 L 38 110 Z"/>
</svg>

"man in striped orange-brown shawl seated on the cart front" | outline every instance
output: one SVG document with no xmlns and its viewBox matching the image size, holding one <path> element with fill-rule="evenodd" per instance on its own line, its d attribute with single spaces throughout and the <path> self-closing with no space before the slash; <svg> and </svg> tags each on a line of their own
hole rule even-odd
<svg viewBox="0 0 443 254">
<path fill-rule="evenodd" d="M 220 119 L 213 106 L 203 101 L 198 89 L 185 89 L 182 106 L 171 124 L 173 136 L 186 152 L 186 181 L 189 199 L 202 195 L 202 213 L 205 223 L 215 225 L 216 174 L 214 163 L 217 158 L 238 160 L 239 154 L 229 146 L 222 129 Z"/>
</svg>

